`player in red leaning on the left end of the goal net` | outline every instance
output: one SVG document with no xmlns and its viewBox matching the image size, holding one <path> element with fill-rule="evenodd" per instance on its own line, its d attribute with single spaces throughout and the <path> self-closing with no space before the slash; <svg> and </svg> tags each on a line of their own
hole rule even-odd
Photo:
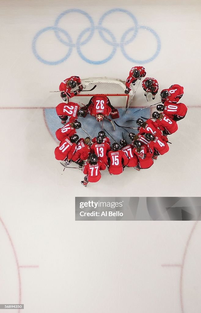
<svg viewBox="0 0 201 313">
<path fill-rule="evenodd" d="M 71 92 L 71 89 L 76 87 L 77 89 Z M 72 98 L 78 95 L 80 91 L 83 90 L 83 85 L 81 84 L 79 76 L 71 76 L 61 82 L 59 90 L 61 91 L 61 98 L 63 101 L 66 101 L 67 97 Z"/>
</svg>

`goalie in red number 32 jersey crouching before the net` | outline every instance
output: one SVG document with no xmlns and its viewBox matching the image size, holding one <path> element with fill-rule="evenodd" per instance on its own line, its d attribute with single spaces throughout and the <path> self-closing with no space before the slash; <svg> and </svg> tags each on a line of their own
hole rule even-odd
<svg viewBox="0 0 201 313">
<path fill-rule="evenodd" d="M 119 118 L 118 110 L 115 109 L 108 99 L 107 96 L 97 95 L 93 96 L 88 105 L 82 108 L 83 110 L 88 110 L 88 113 L 96 117 L 98 122 L 103 121 L 104 116 L 112 115 L 113 119 Z"/>
</svg>

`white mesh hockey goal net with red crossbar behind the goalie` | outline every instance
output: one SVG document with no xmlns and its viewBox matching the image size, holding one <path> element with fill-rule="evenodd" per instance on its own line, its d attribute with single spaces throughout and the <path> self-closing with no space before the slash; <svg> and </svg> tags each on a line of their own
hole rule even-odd
<svg viewBox="0 0 201 313">
<path fill-rule="evenodd" d="M 81 82 L 83 90 L 79 95 L 73 97 L 73 102 L 87 104 L 94 95 L 106 95 L 114 107 L 127 107 L 133 96 L 133 90 L 130 91 L 129 95 L 125 94 L 125 81 L 117 78 L 89 77 L 81 79 Z M 85 91 L 92 89 L 94 85 L 96 85 L 96 88 L 92 91 Z M 71 101 L 71 99 L 68 101 Z"/>
</svg>

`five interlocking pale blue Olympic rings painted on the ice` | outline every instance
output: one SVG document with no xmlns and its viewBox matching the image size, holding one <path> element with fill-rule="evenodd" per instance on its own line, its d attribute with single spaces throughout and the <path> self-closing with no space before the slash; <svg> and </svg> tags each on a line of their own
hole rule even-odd
<svg viewBox="0 0 201 313">
<path fill-rule="evenodd" d="M 131 27 L 131 28 L 128 28 L 122 35 L 121 39 L 120 39 L 120 43 L 117 42 L 114 34 L 108 29 L 108 28 L 105 28 L 103 27 L 103 21 L 105 20 L 106 17 L 108 17 L 108 15 L 111 15 L 112 13 L 115 13 L 115 12 L 121 12 L 121 13 L 125 13 L 127 14 L 132 20 L 133 20 L 133 24 L 134 26 Z M 69 35 L 69 33 L 64 30 L 63 28 L 60 28 L 58 26 L 61 18 L 63 18 L 63 16 L 69 14 L 69 13 L 79 13 L 79 14 L 82 14 L 84 15 L 89 23 L 90 23 L 90 27 L 87 27 L 85 28 L 79 35 L 78 35 L 78 38 L 77 38 L 77 41 L 76 43 L 73 43 L 73 40 L 71 38 L 71 36 Z M 149 59 L 144 59 L 144 60 L 139 60 L 139 59 L 133 59 L 131 56 L 129 56 L 127 54 L 127 52 L 125 51 L 125 46 L 127 46 L 128 44 L 130 44 L 137 36 L 138 34 L 138 30 L 140 29 L 143 29 L 143 30 L 146 30 L 150 33 L 152 33 L 152 35 L 156 38 L 156 41 L 157 41 L 157 48 L 156 48 L 156 51 L 155 53 L 152 55 L 152 57 L 150 57 Z M 81 50 L 81 47 L 85 44 L 87 44 L 90 39 L 93 37 L 94 35 L 94 32 L 95 31 L 98 31 L 100 37 L 102 38 L 102 40 L 108 44 L 109 46 L 112 46 L 113 47 L 113 50 L 112 52 L 108 55 L 108 57 L 106 59 L 102 59 L 102 60 L 99 60 L 99 61 L 93 61 L 93 60 L 90 60 L 88 59 L 83 53 L 82 53 L 82 50 Z M 56 38 L 59 40 L 60 43 L 64 44 L 66 47 L 68 47 L 68 52 L 66 53 L 66 55 L 62 58 L 62 59 L 59 59 L 57 61 L 48 61 L 48 60 L 45 60 L 43 59 L 37 52 L 37 49 L 36 49 L 36 43 L 37 43 L 37 40 L 38 38 L 40 37 L 41 34 L 43 33 L 46 33 L 48 31 L 54 31 L 55 33 L 55 36 Z M 63 38 L 61 38 L 61 34 L 63 34 L 66 39 L 64 40 Z M 87 38 L 83 40 L 83 37 L 88 34 Z M 106 38 L 105 35 L 108 35 L 110 39 Z M 126 40 L 126 38 L 128 37 L 129 34 L 132 34 L 131 38 L 129 38 L 128 40 Z M 129 61 L 133 62 L 133 63 L 139 63 L 139 64 L 145 64 L 145 63 L 148 63 L 148 62 L 151 62 L 153 61 L 159 54 L 160 52 L 160 47 L 161 47 L 161 44 L 160 44 L 160 38 L 158 36 L 158 34 L 152 29 L 152 28 L 149 28 L 147 26 L 141 26 L 141 25 L 138 25 L 138 22 L 137 22 L 137 19 L 135 18 L 135 16 L 130 13 L 129 11 L 127 10 L 123 10 L 123 9 L 120 9 L 120 8 L 115 8 L 115 9 L 112 9 L 112 10 L 109 10 L 107 11 L 106 13 L 104 13 L 102 15 L 102 17 L 99 19 L 99 22 L 98 22 L 98 26 L 95 26 L 94 22 L 93 22 L 93 19 L 92 17 L 84 12 L 83 10 L 79 10 L 79 9 L 69 9 L 69 10 L 66 10 L 64 11 L 63 13 L 61 13 L 58 18 L 56 19 L 55 23 L 54 23 L 54 26 L 49 26 L 49 27 L 45 27 L 43 29 L 41 29 L 36 35 L 35 37 L 33 38 L 33 42 L 32 42 L 32 50 L 33 50 L 33 54 L 35 55 L 35 57 L 42 63 L 44 64 L 48 64 L 48 65 L 56 65 L 56 64 L 60 64 L 62 62 L 64 62 L 65 60 L 67 60 L 69 58 L 69 56 L 71 55 L 72 53 L 72 50 L 73 48 L 76 48 L 77 49 L 77 52 L 80 56 L 81 59 L 83 59 L 83 61 L 87 62 L 87 63 L 90 63 L 90 64 L 103 64 L 103 63 L 106 63 L 108 62 L 110 59 L 113 58 L 114 54 L 116 53 L 116 50 L 117 48 L 120 48 L 121 49 L 121 52 L 122 54 L 124 55 L 124 57 L 126 59 L 128 59 Z"/>
</svg>

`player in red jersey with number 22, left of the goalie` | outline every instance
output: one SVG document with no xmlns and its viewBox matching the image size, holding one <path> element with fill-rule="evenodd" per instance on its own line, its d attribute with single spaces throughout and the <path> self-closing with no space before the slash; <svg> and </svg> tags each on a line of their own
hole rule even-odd
<svg viewBox="0 0 201 313">
<path fill-rule="evenodd" d="M 56 106 L 56 112 L 61 119 L 61 123 L 64 125 L 69 118 L 69 122 L 75 121 L 78 116 L 83 116 L 83 111 L 80 109 L 78 103 L 68 102 L 68 105 L 64 102 L 59 103 Z"/>
</svg>

